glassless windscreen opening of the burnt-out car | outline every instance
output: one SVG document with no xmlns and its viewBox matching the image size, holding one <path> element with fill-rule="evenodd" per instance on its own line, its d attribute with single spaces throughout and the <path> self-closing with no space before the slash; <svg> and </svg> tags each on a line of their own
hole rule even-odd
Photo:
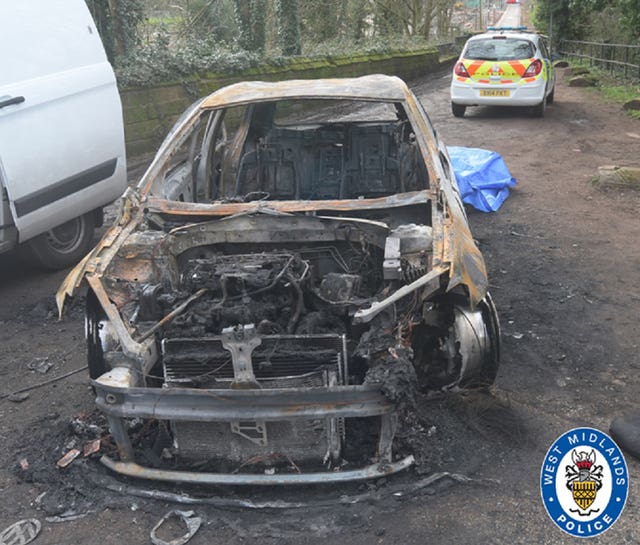
<svg viewBox="0 0 640 545">
<path fill-rule="evenodd" d="M 282 100 L 204 111 L 161 188 L 169 200 L 378 198 L 429 186 L 401 104 Z"/>
</svg>

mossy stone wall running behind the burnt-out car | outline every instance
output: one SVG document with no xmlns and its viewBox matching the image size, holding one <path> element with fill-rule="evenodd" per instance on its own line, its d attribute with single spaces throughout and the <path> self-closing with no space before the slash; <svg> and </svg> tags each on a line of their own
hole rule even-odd
<svg viewBox="0 0 640 545">
<path fill-rule="evenodd" d="M 189 104 L 238 81 L 339 78 L 366 74 L 390 74 L 410 80 L 439 66 L 440 54 L 434 47 L 385 55 L 295 58 L 282 66 L 264 65 L 233 75 L 208 73 L 180 82 L 122 89 L 127 155 L 133 159 L 155 151 Z"/>
</svg>

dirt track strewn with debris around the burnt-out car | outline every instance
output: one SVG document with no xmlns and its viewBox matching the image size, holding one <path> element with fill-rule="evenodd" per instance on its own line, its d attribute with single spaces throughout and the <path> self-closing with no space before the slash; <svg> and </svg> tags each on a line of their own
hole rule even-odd
<svg viewBox="0 0 640 545">
<path fill-rule="evenodd" d="M 603 193 L 590 183 L 600 165 L 638 161 L 640 122 L 595 92 L 568 88 L 562 74 L 544 119 L 524 109 L 488 108 L 455 119 L 448 81 L 443 72 L 413 82 L 441 137 L 449 145 L 500 152 L 518 180 L 498 213 L 468 211 L 503 326 L 495 400 L 436 399 L 421 406 L 423 419 L 435 427 L 426 443 L 433 448 L 431 469 L 477 481 L 445 479 L 418 497 L 294 512 L 195 507 L 205 524 L 193 545 L 575 542 L 544 513 L 538 475 L 544 452 L 562 432 L 581 425 L 607 430 L 619 412 L 640 407 L 640 197 Z M 54 315 L 53 293 L 63 276 L 0 256 L 2 391 L 84 365 L 81 302 L 61 322 Z M 53 364 L 46 374 L 29 368 L 42 358 Z M 0 528 L 36 517 L 44 529 L 35 543 L 148 543 L 149 530 L 176 507 L 106 493 L 87 485 L 79 469 L 53 468 L 69 421 L 91 409 L 84 373 L 21 403 L 0 401 Z M 26 473 L 17 470 L 21 458 L 30 463 Z M 625 512 L 596 543 L 640 542 L 640 464 L 627 462 L 632 482 Z M 394 484 L 373 489 L 384 495 Z M 306 490 L 295 498 L 331 500 L 366 490 Z M 68 510 L 96 512 L 45 521 Z"/>
</svg>

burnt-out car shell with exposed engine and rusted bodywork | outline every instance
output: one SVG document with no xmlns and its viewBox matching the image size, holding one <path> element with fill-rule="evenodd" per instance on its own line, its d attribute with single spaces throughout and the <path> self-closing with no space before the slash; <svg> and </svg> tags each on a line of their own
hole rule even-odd
<svg viewBox="0 0 640 545">
<path fill-rule="evenodd" d="M 102 461 L 129 476 L 391 474 L 414 461 L 394 435 L 419 392 L 487 385 L 498 368 L 446 149 L 395 77 L 239 83 L 198 101 L 61 308 L 82 283 L 118 447 Z M 136 446 L 140 421 L 154 456 Z"/>
</svg>

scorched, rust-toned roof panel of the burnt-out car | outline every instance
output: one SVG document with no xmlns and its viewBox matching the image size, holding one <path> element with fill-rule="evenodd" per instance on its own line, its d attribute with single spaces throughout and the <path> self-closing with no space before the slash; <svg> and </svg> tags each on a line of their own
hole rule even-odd
<svg viewBox="0 0 640 545">
<path fill-rule="evenodd" d="M 382 74 L 340 79 L 245 81 L 215 91 L 201 102 L 200 108 L 292 98 L 403 102 L 410 94 L 407 84 L 400 78 Z"/>
</svg>

